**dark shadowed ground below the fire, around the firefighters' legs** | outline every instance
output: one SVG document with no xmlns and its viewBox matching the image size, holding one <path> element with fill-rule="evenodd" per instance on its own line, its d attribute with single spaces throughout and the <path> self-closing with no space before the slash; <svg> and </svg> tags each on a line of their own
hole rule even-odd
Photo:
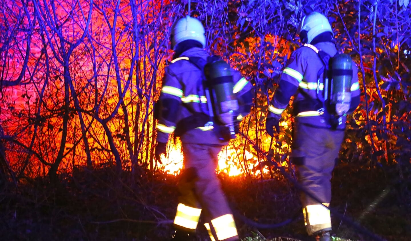
<svg viewBox="0 0 411 241">
<path fill-rule="evenodd" d="M 332 179 L 333 232 L 338 240 L 411 240 L 411 179 L 392 170 L 340 165 Z M 307 240 L 296 188 L 274 179 L 219 176 L 236 211 L 240 236 Z M 163 174 L 116 178 L 111 170 L 79 171 L 0 189 L 0 240 L 166 241 L 177 205 L 177 178 Z M 276 228 L 246 225 L 293 221 Z M 208 240 L 203 226 L 199 241 Z"/>
</svg>

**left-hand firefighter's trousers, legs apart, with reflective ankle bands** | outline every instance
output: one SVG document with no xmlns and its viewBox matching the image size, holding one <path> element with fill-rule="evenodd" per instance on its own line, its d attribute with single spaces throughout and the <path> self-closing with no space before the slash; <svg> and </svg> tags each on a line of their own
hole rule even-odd
<svg viewBox="0 0 411 241">
<path fill-rule="evenodd" d="M 239 240 L 233 214 L 215 173 L 218 144 L 182 143 L 184 171 L 178 183 L 180 191 L 174 225 L 195 232 L 202 213 L 204 226 L 212 241 Z"/>
</svg>

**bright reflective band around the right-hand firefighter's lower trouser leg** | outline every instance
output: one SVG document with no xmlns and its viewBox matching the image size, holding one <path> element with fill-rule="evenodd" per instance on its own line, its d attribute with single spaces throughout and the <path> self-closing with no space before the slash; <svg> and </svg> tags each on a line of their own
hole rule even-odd
<svg viewBox="0 0 411 241">
<path fill-rule="evenodd" d="M 328 206 L 329 203 L 323 203 Z M 329 229 L 331 230 L 330 209 L 321 204 L 307 205 L 302 209 L 304 215 L 304 225 L 307 226 L 308 235 L 314 232 Z"/>
</svg>

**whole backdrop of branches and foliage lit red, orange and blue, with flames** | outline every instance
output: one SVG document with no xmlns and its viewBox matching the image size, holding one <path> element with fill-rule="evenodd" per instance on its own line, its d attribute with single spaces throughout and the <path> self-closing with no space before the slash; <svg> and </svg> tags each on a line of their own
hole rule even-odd
<svg viewBox="0 0 411 241">
<path fill-rule="evenodd" d="M 254 84 L 255 105 L 241 130 L 275 161 L 289 167 L 292 101 L 279 140 L 272 141 L 264 128 L 266 95 L 275 91 L 286 59 L 298 47 L 293 33 L 301 9 L 311 8 L 329 16 L 337 47 L 360 67 L 363 102 L 349 118 L 341 159 L 409 164 L 410 6 L 334 4 L 192 1 L 191 10 L 205 23 L 208 50 Z M 0 8 L 0 149 L 15 173 L 10 175 L 53 177 L 75 166 L 155 169 L 152 106 L 170 59 L 169 26 L 187 6 L 31 0 L 2 1 Z M 173 164 L 164 170 L 178 173 L 179 144 L 171 150 L 163 164 Z M 265 161 L 238 136 L 222 149 L 219 168 L 229 175 L 272 175 Z"/>
</svg>

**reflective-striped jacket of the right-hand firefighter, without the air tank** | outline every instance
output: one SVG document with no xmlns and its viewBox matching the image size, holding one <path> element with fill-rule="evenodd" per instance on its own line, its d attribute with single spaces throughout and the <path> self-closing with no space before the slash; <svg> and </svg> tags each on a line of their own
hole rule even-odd
<svg viewBox="0 0 411 241">
<path fill-rule="evenodd" d="M 286 68 L 282 72 L 275 95 L 270 101 L 268 110 L 271 116 L 279 119 L 281 113 L 288 106 L 291 96 L 298 91 L 293 101 L 294 115 L 298 121 L 311 124 L 312 126 L 327 128 L 330 126 L 330 123 L 324 115 L 324 106 L 317 97 L 324 95 L 323 75 L 317 76 L 319 70 L 324 65 L 315 50 L 308 46 L 310 45 L 300 47 L 291 54 Z M 330 56 L 337 54 L 337 49 L 331 42 L 320 42 L 314 46 L 314 49 L 322 50 Z M 358 68 L 353 63 L 353 77 L 351 80 L 352 99 L 349 113 L 353 112 L 360 102 L 360 86 L 358 84 L 357 72 Z M 343 116 L 342 122 L 337 129 L 345 129 L 345 120 L 346 117 Z"/>
</svg>

